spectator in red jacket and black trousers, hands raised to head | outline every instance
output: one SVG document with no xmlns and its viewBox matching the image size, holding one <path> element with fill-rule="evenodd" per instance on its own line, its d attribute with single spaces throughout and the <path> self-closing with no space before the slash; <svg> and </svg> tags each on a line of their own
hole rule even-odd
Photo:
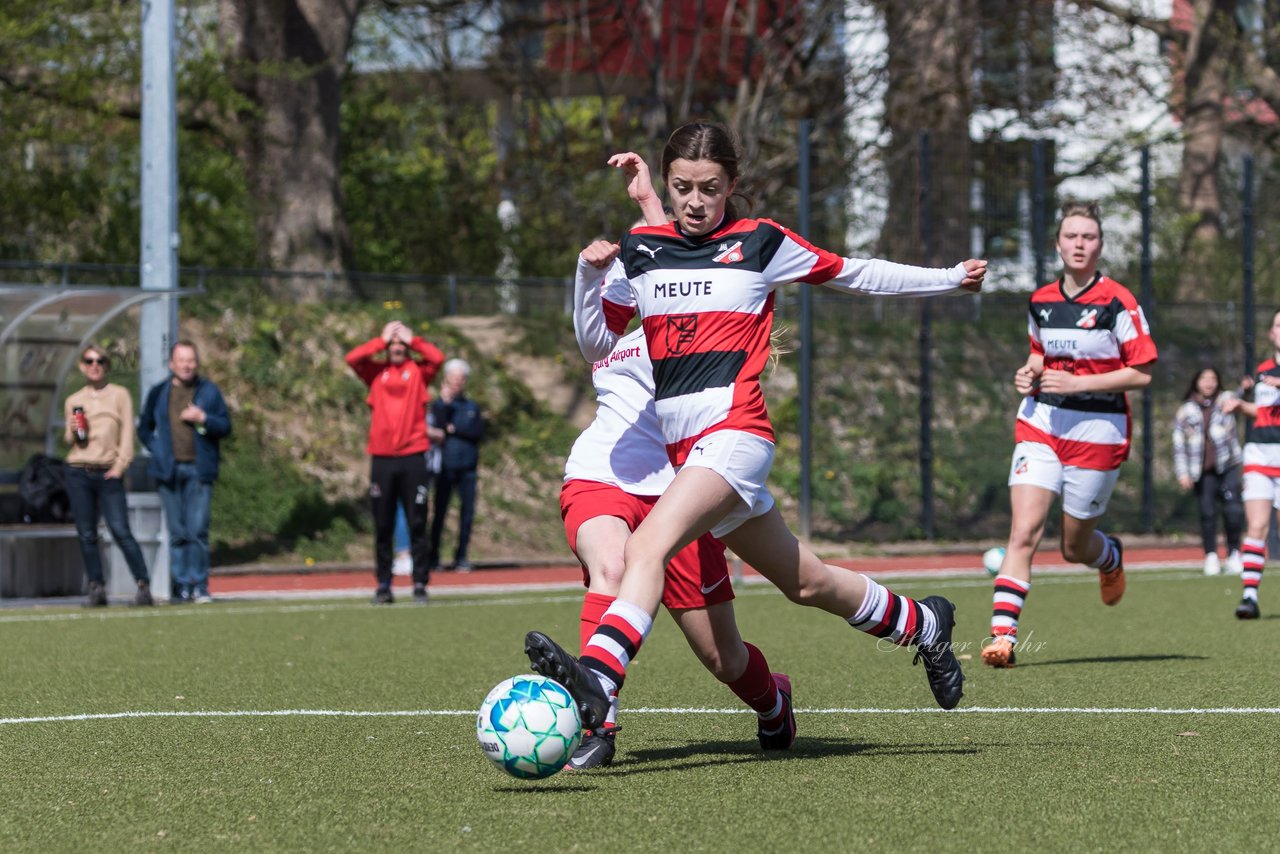
<svg viewBox="0 0 1280 854">
<path fill-rule="evenodd" d="M 387 352 L 385 359 L 378 356 Z M 421 359 L 410 357 L 410 351 Z M 347 364 L 369 385 L 369 497 L 374 510 L 374 556 L 378 590 L 374 604 L 390 604 L 392 540 L 396 503 L 408 517 L 413 556 L 413 600 L 426 602 L 426 405 L 428 387 L 444 362 L 439 347 L 412 333 L 399 320 L 383 334 L 347 353 Z"/>
</svg>

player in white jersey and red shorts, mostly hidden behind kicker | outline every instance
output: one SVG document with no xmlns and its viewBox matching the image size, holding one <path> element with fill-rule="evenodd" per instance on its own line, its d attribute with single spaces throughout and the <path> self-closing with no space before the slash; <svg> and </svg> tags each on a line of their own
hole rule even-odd
<svg viewBox="0 0 1280 854">
<path fill-rule="evenodd" d="M 580 262 L 579 279 L 581 268 Z M 675 478 L 654 410 L 644 330 L 623 335 L 596 360 L 591 383 L 595 420 L 573 443 L 561 492 L 564 534 L 588 585 L 580 620 L 584 648 L 617 598 L 627 538 Z M 764 654 L 742 641 L 724 547 L 710 534 L 686 545 L 667 565 L 662 602 L 707 670 L 755 711 L 760 746 L 788 749 L 796 731 L 791 680 L 772 673 Z M 568 767 L 586 769 L 613 762 L 616 693 L 611 700 L 604 723 L 582 734 Z"/>
</svg>

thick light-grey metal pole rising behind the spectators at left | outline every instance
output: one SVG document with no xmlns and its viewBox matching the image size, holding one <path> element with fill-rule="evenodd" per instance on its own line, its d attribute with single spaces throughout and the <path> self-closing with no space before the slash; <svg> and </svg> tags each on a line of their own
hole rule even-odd
<svg viewBox="0 0 1280 854">
<path fill-rule="evenodd" d="M 143 289 L 178 287 L 178 105 L 174 79 L 173 0 L 142 4 L 142 257 Z M 178 301 L 142 303 L 142 393 L 169 375 L 169 347 L 178 334 Z"/>
</svg>

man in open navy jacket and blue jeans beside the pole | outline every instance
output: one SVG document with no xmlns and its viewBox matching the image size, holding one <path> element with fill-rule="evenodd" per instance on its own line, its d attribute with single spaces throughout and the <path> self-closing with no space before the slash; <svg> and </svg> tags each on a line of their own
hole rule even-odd
<svg viewBox="0 0 1280 854">
<path fill-rule="evenodd" d="M 169 379 L 156 383 L 142 405 L 138 438 L 151 452 L 169 526 L 169 574 L 175 602 L 212 602 L 209 595 L 209 517 L 218 480 L 219 443 L 232 416 L 218 385 L 200 375 L 196 344 L 169 350 Z"/>
</svg>

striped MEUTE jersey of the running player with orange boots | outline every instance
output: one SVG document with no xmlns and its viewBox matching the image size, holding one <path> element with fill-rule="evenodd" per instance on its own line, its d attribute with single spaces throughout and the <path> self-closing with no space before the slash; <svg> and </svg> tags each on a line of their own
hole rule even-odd
<svg viewBox="0 0 1280 854">
<path fill-rule="evenodd" d="M 1032 353 L 1044 357 L 1046 370 L 1088 376 L 1156 361 L 1142 306 L 1101 273 L 1075 296 L 1062 291 L 1061 279 L 1038 288 L 1027 329 Z M 1015 435 L 1053 447 L 1064 465 L 1111 470 L 1129 457 L 1130 426 L 1124 392 L 1037 392 L 1023 402 Z"/>
</svg>

